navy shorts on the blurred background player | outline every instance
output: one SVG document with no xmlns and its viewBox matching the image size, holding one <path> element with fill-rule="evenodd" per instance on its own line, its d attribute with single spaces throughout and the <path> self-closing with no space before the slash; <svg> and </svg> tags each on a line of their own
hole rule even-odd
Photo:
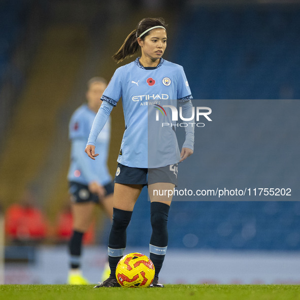
<svg viewBox="0 0 300 300">
<path fill-rule="evenodd" d="M 114 183 L 109 182 L 104 186 L 106 190 L 106 195 L 112 194 L 114 192 Z M 88 190 L 88 186 L 75 181 L 69 183 L 69 192 L 71 194 L 71 201 L 73 203 L 84 203 L 84 202 L 94 202 L 99 203 L 99 198 L 97 194 L 91 193 Z"/>
</svg>

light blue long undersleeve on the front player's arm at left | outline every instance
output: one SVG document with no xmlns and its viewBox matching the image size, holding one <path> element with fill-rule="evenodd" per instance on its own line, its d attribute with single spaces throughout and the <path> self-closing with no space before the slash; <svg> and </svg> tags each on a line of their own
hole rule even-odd
<svg viewBox="0 0 300 300">
<path fill-rule="evenodd" d="M 93 122 L 86 145 L 95 146 L 96 139 L 97 139 L 100 131 L 104 127 L 105 123 L 107 122 L 108 117 L 109 117 L 113 107 L 114 106 L 112 104 L 110 104 L 106 101 L 104 101 L 102 103 L 101 107 L 99 108 L 99 110 L 95 116 L 95 119 L 94 119 L 94 122 Z"/>
</svg>

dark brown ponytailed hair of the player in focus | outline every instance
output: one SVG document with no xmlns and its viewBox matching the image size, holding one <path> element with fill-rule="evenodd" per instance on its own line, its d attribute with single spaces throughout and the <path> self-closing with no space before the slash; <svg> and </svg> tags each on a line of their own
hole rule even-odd
<svg viewBox="0 0 300 300">
<path fill-rule="evenodd" d="M 119 63 L 125 58 L 135 55 L 140 49 L 140 45 L 137 40 L 138 37 L 145 30 L 154 26 L 163 26 L 164 28 L 166 28 L 166 26 L 168 25 L 165 24 L 162 18 L 145 18 L 141 20 L 137 26 L 137 29 L 130 32 L 130 34 L 127 36 L 126 40 L 124 41 L 123 45 L 113 55 L 114 60 Z M 144 38 L 149 35 L 150 31 L 146 32 L 146 34 L 143 35 L 141 39 L 144 40 Z"/>
</svg>

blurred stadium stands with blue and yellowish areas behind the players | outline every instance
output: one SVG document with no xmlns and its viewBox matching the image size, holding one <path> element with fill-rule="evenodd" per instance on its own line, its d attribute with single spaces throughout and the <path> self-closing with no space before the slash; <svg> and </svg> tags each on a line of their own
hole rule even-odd
<svg viewBox="0 0 300 300">
<path fill-rule="evenodd" d="M 243 256 L 250 251 L 296 257 L 300 250 L 299 1 L 232 0 L 226 5 L 218 0 L 1 1 L 0 204 L 4 214 L 26 189 L 35 193 L 50 229 L 41 244 L 27 249 L 33 251 L 30 259 L 37 259 L 40 247 L 57 246 L 51 228 L 69 201 L 68 123 L 84 102 L 86 81 L 93 76 L 110 80 L 118 66 L 111 56 L 138 21 L 148 16 L 164 17 L 169 24 L 164 58 L 184 66 L 193 105 L 213 108 L 213 125 L 196 128 L 195 153 L 180 165 L 182 182 L 194 189 L 290 187 L 294 191 L 291 198 L 271 199 L 280 201 L 180 198 L 170 211 L 172 255 L 231 251 Z M 119 104 L 112 113 L 112 175 L 123 130 Z M 180 141 L 182 135 L 179 130 Z M 128 227 L 127 245 L 133 249 L 149 243 L 149 208 L 143 190 Z M 95 247 L 105 249 L 109 227 L 98 212 Z M 12 251 L 19 255 L 9 237 L 5 245 L 6 256 Z M 59 246 L 63 253 L 65 245 Z M 29 255 L 26 251 L 20 253 Z M 8 262 L 6 268 L 11 268 Z M 4 282 L 11 282 L 5 274 Z"/>
</svg>

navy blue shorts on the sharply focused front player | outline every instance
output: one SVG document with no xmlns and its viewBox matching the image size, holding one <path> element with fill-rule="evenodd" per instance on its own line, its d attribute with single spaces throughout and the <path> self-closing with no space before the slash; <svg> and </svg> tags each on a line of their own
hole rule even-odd
<svg viewBox="0 0 300 300">
<path fill-rule="evenodd" d="M 118 163 L 115 175 L 115 183 L 121 184 L 142 184 L 143 186 L 165 182 L 178 184 L 177 180 L 178 163 L 161 166 L 160 168 L 132 168 Z"/>
</svg>

